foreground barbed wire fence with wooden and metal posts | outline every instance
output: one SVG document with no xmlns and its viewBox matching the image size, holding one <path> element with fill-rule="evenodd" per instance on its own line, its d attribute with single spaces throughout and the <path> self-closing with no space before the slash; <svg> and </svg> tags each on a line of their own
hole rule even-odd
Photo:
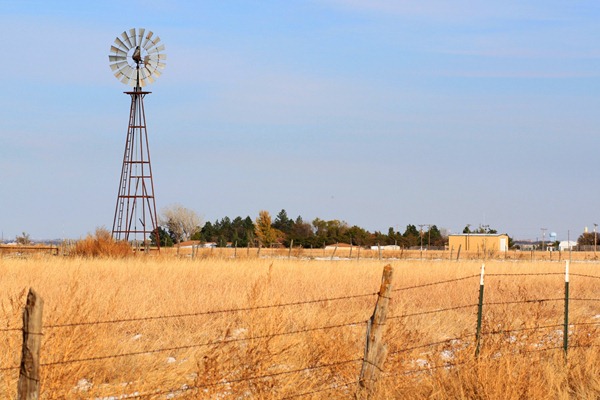
<svg viewBox="0 0 600 400">
<path fill-rule="evenodd" d="M 391 266 L 386 266 L 391 271 Z M 385 275 L 385 273 L 384 273 Z M 483 297 L 483 286 L 484 286 L 484 276 L 485 278 L 491 279 L 503 279 L 503 278 L 522 278 L 527 276 L 548 276 L 548 277 L 565 277 L 565 293 L 564 297 L 544 297 L 544 298 L 523 298 L 516 300 L 506 300 L 506 301 L 489 301 L 485 302 Z M 22 347 L 22 361 L 20 365 L 14 366 L 2 366 L 0 367 L 0 372 L 2 373 L 11 373 L 15 371 L 19 371 L 19 385 L 18 385 L 18 398 L 37 398 L 37 397 L 26 397 L 31 393 L 34 395 L 39 395 L 41 392 L 40 388 L 40 378 L 39 371 L 41 369 L 48 368 L 60 368 L 61 366 L 72 365 L 72 364 L 81 364 L 81 363 L 91 363 L 97 361 L 106 361 L 106 360 L 119 360 L 123 358 L 132 358 L 141 355 L 152 355 L 158 353 L 167 353 L 178 350 L 189 350 L 189 349 L 198 349 L 202 347 L 214 347 L 214 346 L 223 346 L 229 344 L 240 344 L 240 343 L 248 343 L 253 341 L 259 341 L 262 339 L 272 339 L 276 337 L 286 337 L 286 336 L 297 336 L 302 334 L 307 334 L 311 332 L 326 332 L 335 329 L 361 329 L 366 330 L 366 348 L 365 354 L 362 357 L 351 357 L 339 360 L 332 360 L 329 362 L 317 362 L 311 363 L 308 365 L 303 365 L 302 367 L 287 369 L 285 371 L 275 371 L 271 373 L 262 373 L 255 374 L 250 376 L 243 376 L 239 378 L 220 378 L 212 382 L 199 382 L 197 384 L 184 384 L 179 387 L 174 388 L 164 388 L 164 389 L 156 389 L 144 393 L 134 392 L 132 394 L 126 395 L 126 398 L 174 398 L 176 396 L 185 395 L 186 393 L 199 393 L 202 391 L 206 391 L 212 388 L 219 387 L 231 387 L 232 385 L 239 384 L 242 382 L 252 382 L 252 381 L 264 381 L 271 378 L 281 378 L 286 377 L 292 374 L 300 374 L 300 373 L 316 373 L 318 371 L 322 371 L 325 369 L 333 369 L 340 368 L 342 366 L 355 366 L 358 368 L 362 364 L 361 374 L 359 375 L 359 371 L 356 371 L 354 375 L 356 379 L 346 379 L 341 382 L 329 383 L 323 385 L 320 388 L 310 388 L 308 390 L 298 390 L 293 394 L 284 394 L 281 399 L 292 399 L 292 398 L 302 398 L 302 397 L 311 397 L 319 394 L 323 394 L 326 392 L 340 392 L 344 391 L 346 394 L 354 393 L 355 390 L 358 389 L 360 391 L 361 388 L 365 389 L 364 398 L 369 398 L 370 393 L 372 393 L 373 387 L 370 385 L 372 382 L 376 382 L 379 378 L 389 379 L 397 376 L 418 376 L 423 373 L 431 373 L 436 370 L 448 370 L 451 368 L 458 368 L 461 365 L 467 363 L 464 359 L 458 359 L 454 356 L 454 352 L 460 350 L 468 350 L 476 348 L 475 354 L 473 354 L 473 359 L 476 360 L 480 356 L 480 345 L 481 343 L 485 343 L 486 339 L 491 339 L 495 337 L 502 337 L 503 341 L 508 344 L 514 344 L 515 346 L 520 345 L 518 351 L 522 352 L 546 352 L 546 351 L 557 351 L 562 350 L 564 352 L 565 357 L 567 356 L 567 352 L 569 349 L 568 338 L 574 333 L 572 330 L 577 329 L 578 327 L 597 327 L 600 325 L 600 321 L 569 321 L 568 320 L 568 311 L 569 311 L 569 302 L 574 303 L 597 303 L 600 302 L 600 298 L 595 297 L 569 297 L 569 277 L 576 277 L 582 280 L 600 280 L 600 276 L 590 275 L 590 274 L 580 274 L 580 273 L 570 273 L 569 274 L 569 262 L 566 262 L 566 271 L 565 273 L 558 272 L 547 272 L 547 273 L 489 273 L 487 275 L 484 274 L 484 266 L 482 265 L 482 271 L 480 274 L 472 274 L 464 277 L 458 277 L 455 279 L 447 279 L 440 280 L 435 282 L 428 282 L 419 285 L 412 285 L 406 287 L 400 287 L 393 289 L 391 288 L 391 275 L 389 276 L 387 283 L 385 279 L 382 279 L 382 288 L 379 292 L 370 292 L 370 293 L 359 293 L 354 295 L 347 296 L 338 296 L 338 297 L 330 297 L 330 298 L 320 298 L 320 299 L 311 299 L 304 301 L 294 301 L 294 302 L 282 302 L 278 304 L 266 304 L 266 305 L 258 305 L 253 307 L 241 307 L 241 308 L 226 308 L 226 309 L 218 309 L 218 310 L 207 310 L 200 312 L 191 312 L 191 313 L 179 313 L 172 315 L 156 315 L 156 316 L 140 316 L 140 317 L 132 317 L 132 318 L 121 318 L 121 319 L 112 319 L 112 320 L 95 320 L 95 321 L 83 321 L 83 322 L 72 322 L 72 323 L 54 323 L 54 324 L 41 324 L 41 311 L 37 312 L 39 314 L 38 321 L 28 321 L 28 318 L 36 315 L 36 312 L 32 311 L 31 304 L 35 303 L 43 304 L 42 301 L 36 300 L 39 296 L 33 291 L 30 290 L 28 294 L 28 302 L 24 310 L 24 323 L 22 328 L 17 327 L 6 327 L 1 328 L 0 332 L 10 333 L 10 332 L 23 332 L 23 347 Z M 412 312 L 401 312 L 397 315 L 384 317 L 383 320 L 378 322 L 374 322 L 374 318 L 377 314 L 377 305 L 386 300 L 390 300 L 391 298 L 403 298 L 405 297 L 407 292 L 415 291 L 419 289 L 427 289 L 431 290 L 436 287 L 446 287 L 447 285 L 452 285 L 458 282 L 468 283 L 468 281 L 475 281 L 477 278 L 480 280 L 480 292 L 478 302 L 467 302 L 466 304 L 453 305 L 448 307 L 441 308 L 432 308 L 432 309 L 423 309 L 420 311 L 412 311 Z M 388 292 L 384 293 L 384 286 L 387 287 Z M 215 316 L 215 315 L 229 315 L 233 313 L 240 312 L 250 312 L 257 310 L 273 310 L 276 308 L 290 308 L 290 307 L 304 307 L 310 304 L 340 304 L 347 300 L 372 300 L 377 298 L 377 304 L 375 307 L 375 311 L 373 316 L 370 319 L 355 319 L 351 321 L 345 321 L 341 323 L 329 323 L 312 327 L 303 327 L 299 329 L 291 329 L 283 332 L 274 332 L 267 334 L 257 334 L 251 335 L 248 337 L 234 337 L 234 338 L 223 338 L 219 340 L 208 340 L 198 343 L 180 345 L 180 346 L 165 346 L 158 347 L 154 349 L 146 349 L 139 351 L 129 351 L 122 352 L 116 354 L 103 354 L 103 355 L 95 355 L 91 357 L 81 357 L 81 358 L 66 358 L 66 359 L 55 359 L 50 360 L 44 363 L 39 362 L 39 346 L 41 337 L 44 333 L 50 331 L 59 331 L 65 328 L 74 328 L 74 327 L 83 327 L 89 326 L 94 327 L 98 325 L 114 325 L 114 324 L 122 324 L 122 323 L 132 323 L 132 322 L 140 322 L 146 323 L 149 321 L 161 321 L 168 319 L 176 319 L 176 318 L 192 318 L 199 316 Z M 32 301 L 30 301 L 33 299 Z M 551 304 L 564 302 L 564 321 L 562 323 L 549 323 L 549 324 L 540 324 L 539 321 L 534 321 L 533 326 L 520 326 L 520 327 L 508 327 L 503 328 L 502 326 L 491 326 L 491 323 L 483 324 L 481 321 L 484 317 L 483 310 L 488 308 L 494 308 L 498 306 L 531 306 L 531 305 L 543 305 L 543 304 Z M 387 307 L 386 307 L 387 309 Z M 445 338 L 443 340 L 434 340 L 428 341 L 425 343 L 418 343 L 416 340 L 403 340 L 403 341 L 387 341 L 391 343 L 392 346 L 395 346 L 391 351 L 387 351 L 387 349 L 383 349 L 385 345 L 381 343 L 377 343 L 375 345 L 371 344 L 371 348 L 369 348 L 369 340 L 372 339 L 373 331 L 379 325 L 379 328 L 386 327 L 386 319 L 390 322 L 390 326 L 394 326 L 397 324 L 406 324 L 407 320 L 411 318 L 418 317 L 431 317 L 435 314 L 445 315 L 445 313 L 463 310 L 468 311 L 472 310 L 472 313 L 477 315 L 477 329 L 473 333 L 464 333 L 452 336 L 450 338 Z M 489 321 L 488 321 L 489 322 Z M 562 331 L 560 329 L 562 328 Z M 551 331 L 551 335 L 546 335 L 546 340 L 543 343 L 538 343 L 536 346 L 524 345 L 523 343 L 519 343 L 519 338 L 517 335 L 522 334 L 530 334 L 531 332 L 547 332 Z M 558 332 L 562 333 L 559 335 Z M 381 340 L 381 338 L 379 338 Z M 35 354 L 35 349 L 31 350 L 31 340 L 38 341 L 38 354 Z M 560 341 L 562 340 L 562 343 Z M 586 348 L 586 347 L 598 347 L 599 345 L 595 342 L 588 343 L 574 343 L 571 344 L 571 348 Z M 35 347 L 35 346 L 34 346 Z M 443 348 L 444 350 L 439 351 L 438 349 Z M 372 354 L 369 355 L 369 351 L 374 351 L 375 356 Z M 436 352 L 441 354 L 442 357 L 438 357 L 437 363 L 433 362 L 433 358 L 429 359 L 420 359 L 418 358 L 420 355 L 428 354 L 431 355 L 432 352 Z M 415 352 L 417 355 L 415 358 Z M 445 357 L 443 356 L 445 354 Z M 373 360 L 379 361 L 375 362 Z M 386 364 L 390 364 L 393 366 L 393 369 L 384 368 L 384 361 Z M 366 369 L 366 367 L 370 367 L 374 372 L 369 376 L 363 376 L 362 371 Z M 22 390 L 32 390 L 30 392 L 21 392 Z M 82 397 L 82 393 L 78 394 L 79 398 Z M 162 397 L 161 397 L 162 396 Z M 166 396 L 166 397 L 165 397 Z M 125 398 L 125 397 L 123 397 Z"/>
</svg>

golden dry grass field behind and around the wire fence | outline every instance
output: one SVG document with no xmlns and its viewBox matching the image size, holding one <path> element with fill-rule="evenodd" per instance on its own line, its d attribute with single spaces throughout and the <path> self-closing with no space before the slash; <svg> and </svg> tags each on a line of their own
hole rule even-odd
<svg viewBox="0 0 600 400">
<path fill-rule="evenodd" d="M 0 258 L 1 397 L 16 394 L 15 328 L 32 287 L 45 302 L 43 399 L 353 398 L 389 263 L 388 356 L 373 398 L 600 398 L 600 263 L 571 263 L 565 359 L 564 262 L 486 261 L 476 358 L 481 261 L 238 252 Z"/>
</svg>

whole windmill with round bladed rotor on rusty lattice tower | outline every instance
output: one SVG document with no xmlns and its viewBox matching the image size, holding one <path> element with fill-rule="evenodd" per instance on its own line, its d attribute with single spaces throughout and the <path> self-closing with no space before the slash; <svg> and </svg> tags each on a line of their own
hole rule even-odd
<svg viewBox="0 0 600 400">
<path fill-rule="evenodd" d="M 153 83 L 165 68 L 164 49 L 151 31 L 129 29 L 117 36 L 108 56 L 115 77 L 133 87 L 124 92 L 131 96 L 131 108 L 112 236 L 136 242 L 141 237 L 144 247 L 152 234 L 159 246 L 160 240 L 144 112 L 144 97 L 151 92 L 142 88 Z"/>
</svg>

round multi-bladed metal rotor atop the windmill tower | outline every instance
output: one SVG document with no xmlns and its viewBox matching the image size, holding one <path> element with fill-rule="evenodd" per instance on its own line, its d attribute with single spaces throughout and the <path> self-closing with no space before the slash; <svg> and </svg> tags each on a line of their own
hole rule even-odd
<svg viewBox="0 0 600 400">
<path fill-rule="evenodd" d="M 132 28 L 117 36 L 110 46 L 109 66 L 122 83 L 141 88 L 153 83 L 165 69 L 164 50 L 160 37 L 152 31 Z"/>
</svg>

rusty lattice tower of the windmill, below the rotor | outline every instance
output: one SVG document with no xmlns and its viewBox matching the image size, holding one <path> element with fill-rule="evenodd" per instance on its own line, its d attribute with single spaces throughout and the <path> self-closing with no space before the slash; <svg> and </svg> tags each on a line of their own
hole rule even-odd
<svg viewBox="0 0 600 400">
<path fill-rule="evenodd" d="M 160 246 L 144 113 L 144 97 L 150 92 L 135 88 L 125 93 L 131 96 L 131 109 L 112 236 L 116 240 L 141 241 L 147 247 L 151 235 L 155 235 Z"/>
</svg>

